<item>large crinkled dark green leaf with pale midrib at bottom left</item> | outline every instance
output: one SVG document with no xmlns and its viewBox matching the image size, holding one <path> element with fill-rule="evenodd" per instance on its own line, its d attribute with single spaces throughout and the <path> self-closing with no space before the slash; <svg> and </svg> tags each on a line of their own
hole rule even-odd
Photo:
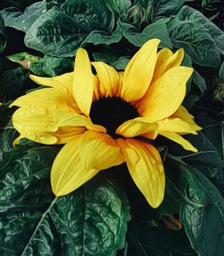
<svg viewBox="0 0 224 256">
<path fill-rule="evenodd" d="M 124 247 L 130 219 L 123 190 L 98 175 L 72 194 L 54 198 L 49 171 L 56 152 L 49 146 L 19 146 L 3 154 L 0 253 L 115 255 Z"/>
</svg>

